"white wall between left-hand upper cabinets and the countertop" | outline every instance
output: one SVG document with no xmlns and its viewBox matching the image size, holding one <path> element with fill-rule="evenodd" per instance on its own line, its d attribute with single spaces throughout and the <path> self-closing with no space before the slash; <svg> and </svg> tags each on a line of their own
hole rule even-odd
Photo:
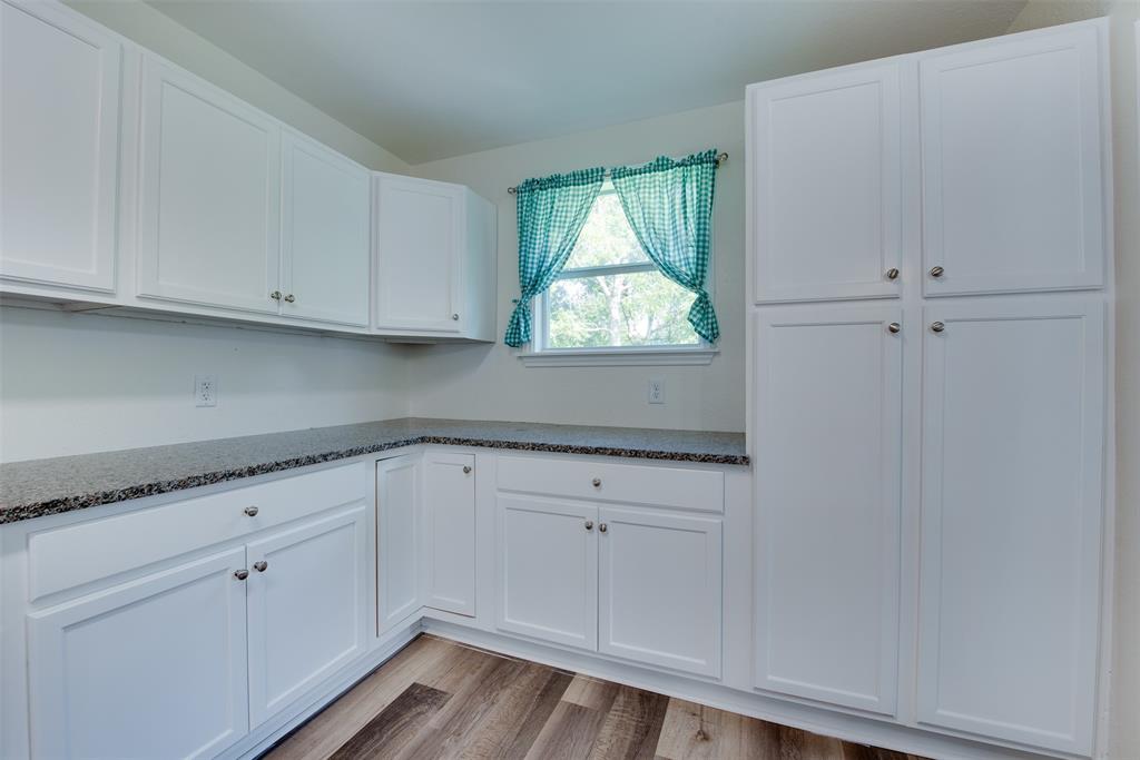
<svg viewBox="0 0 1140 760">
<path fill-rule="evenodd" d="M 404 350 L 376 341 L 0 308 L 0 461 L 407 414 Z M 194 406 L 194 375 L 218 406 Z"/>
</svg>

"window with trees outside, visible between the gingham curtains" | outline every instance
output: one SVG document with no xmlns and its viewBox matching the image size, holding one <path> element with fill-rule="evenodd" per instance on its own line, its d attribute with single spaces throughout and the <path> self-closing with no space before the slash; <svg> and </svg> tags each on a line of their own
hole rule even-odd
<svg viewBox="0 0 1140 760">
<path fill-rule="evenodd" d="M 690 354 L 681 363 L 707 363 L 712 351 L 689 324 L 693 297 L 645 255 L 606 180 L 565 267 L 535 302 L 537 340 L 530 357 L 636 353 L 635 363 L 670 363 L 662 357 L 669 352 Z"/>
</svg>

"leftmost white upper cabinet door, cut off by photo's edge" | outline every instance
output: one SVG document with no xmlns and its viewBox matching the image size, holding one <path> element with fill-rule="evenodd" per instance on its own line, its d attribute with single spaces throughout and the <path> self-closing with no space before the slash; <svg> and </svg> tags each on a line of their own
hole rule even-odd
<svg viewBox="0 0 1140 760">
<path fill-rule="evenodd" d="M 112 293 L 122 44 L 42 2 L 0 35 L 0 277 Z"/>
</svg>

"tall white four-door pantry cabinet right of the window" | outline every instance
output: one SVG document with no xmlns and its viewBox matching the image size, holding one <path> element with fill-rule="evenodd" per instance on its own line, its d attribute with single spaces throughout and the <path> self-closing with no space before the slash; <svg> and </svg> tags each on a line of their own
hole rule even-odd
<svg viewBox="0 0 1140 760">
<path fill-rule="evenodd" d="M 748 89 L 760 692 L 1098 751 L 1107 44 L 1097 19 Z"/>
</svg>

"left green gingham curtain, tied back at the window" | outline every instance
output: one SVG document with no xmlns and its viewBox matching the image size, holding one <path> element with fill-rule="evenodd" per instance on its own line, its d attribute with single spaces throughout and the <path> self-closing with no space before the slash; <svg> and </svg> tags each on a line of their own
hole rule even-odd
<svg viewBox="0 0 1140 760">
<path fill-rule="evenodd" d="M 518 187 L 519 289 L 503 341 L 519 348 L 530 341 L 530 302 L 562 271 L 589 210 L 602 189 L 601 166 L 529 179 Z"/>
</svg>

